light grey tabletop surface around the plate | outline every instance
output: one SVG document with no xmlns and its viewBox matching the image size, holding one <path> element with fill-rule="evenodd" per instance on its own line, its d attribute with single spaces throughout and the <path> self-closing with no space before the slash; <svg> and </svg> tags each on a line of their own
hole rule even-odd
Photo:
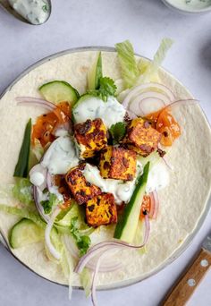
<svg viewBox="0 0 211 306">
<path fill-rule="evenodd" d="M 152 57 L 161 38 L 175 43 L 165 68 L 201 101 L 211 121 L 211 14 L 185 16 L 170 11 L 158 0 L 60 0 L 43 26 L 33 27 L 0 10 L 0 91 L 28 65 L 70 47 L 114 46 L 130 38 L 137 53 Z M 193 212 L 194 213 L 194 212 Z M 197 251 L 210 229 L 207 216 L 194 242 L 180 259 L 138 285 L 98 293 L 99 305 L 156 306 Z M 189 306 L 211 304 L 211 273 Z M 83 293 L 68 291 L 23 268 L 0 246 L 0 305 L 90 305 Z"/>
</svg>

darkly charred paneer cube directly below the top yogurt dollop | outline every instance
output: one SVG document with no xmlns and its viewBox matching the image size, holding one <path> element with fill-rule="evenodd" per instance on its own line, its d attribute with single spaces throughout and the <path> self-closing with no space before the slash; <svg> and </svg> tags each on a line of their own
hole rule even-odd
<svg viewBox="0 0 211 306">
<path fill-rule="evenodd" d="M 81 158 L 94 157 L 97 151 L 104 149 L 107 144 L 105 124 L 99 118 L 75 124 L 74 136 Z"/>
</svg>

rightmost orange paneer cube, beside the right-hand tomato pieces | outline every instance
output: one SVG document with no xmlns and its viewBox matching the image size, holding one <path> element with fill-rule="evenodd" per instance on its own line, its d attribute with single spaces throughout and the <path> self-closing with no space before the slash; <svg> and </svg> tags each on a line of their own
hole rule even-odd
<svg viewBox="0 0 211 306">
<path fill-rule="evenodd" d="M 147 157 L 157 148 L 160 139 L 161 133 L 153 129 L 148 121 L 136 118 L 129 123 L 126 136 L 122 142 L 126 143 L 129 149 Z"/>
</svg>

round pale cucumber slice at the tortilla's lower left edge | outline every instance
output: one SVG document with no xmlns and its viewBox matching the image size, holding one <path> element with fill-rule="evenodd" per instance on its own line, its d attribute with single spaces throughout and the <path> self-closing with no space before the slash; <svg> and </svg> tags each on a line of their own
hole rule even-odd
<svg viewBox="0 0 211 306">
<path fill-rule="evenodd" d="M 21 219 L 13 225 L 9 242 L 13 249 L 44 240 L 44 230 L 29 219 Z"/>
</svg>

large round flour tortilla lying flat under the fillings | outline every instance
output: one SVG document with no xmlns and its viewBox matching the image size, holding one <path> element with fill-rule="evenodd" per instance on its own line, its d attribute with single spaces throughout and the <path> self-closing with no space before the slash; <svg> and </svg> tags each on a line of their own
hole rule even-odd
<svg viewBox="0 0 211 306">
<path fill-rule="evenodd" d="M 51 60 L 44 60 L 35 68 L 32 67 L 4 93 L 0 100 L 0 187 L 5 188 L 13 183 L 13 170 L 29 118 L 35 120 L 46 111 L 38 106 L 16 106 L 15 97 L 39 97 L 38 87 L 55 79 L 68 81 L 80 94 L 84 93 L 87 72 L 96 55 L 97 51 L 90 49 L 55 55 Z M 105 49 L 102 58 L 104 75 L 114 80 L 121 79 L 114 49 Z M 192 98 L 190 92 L 170 73 L 160 69 L 159 77 L 162 83 L 173 90 L 176 98 Z M 179 256 L 207 214 L 211 178 L 211 132 L 207 119 L 197 105 L 177 106 L 173 115 L 180 123 L 182 133 L 180 139 L 173 143 L 173 149 L 167 157 L 174 170 L 169 186 L 159 191 L 160 210 L 156 221 L 151 222 L 148 251 L 143 255 L 137 251 L 119 251 L 114 257 L 123 263 L 122 268 L 100 273 L 97 277 L 100 288 L 129 285 L 165 267 Z M 15 205 L 13 200 L 5 199 L 3 195 L 0 195 L 0 203 Z M 0 230 L 5 237 L 18 219 L 0 212 Z M 113 230 L 104 226 L 95 240 L 111 238 Z M 46 258 L 42 242 L 11 251 L 38 275 L 59 284 L 67 284 L 61 267 Z M 80 285 L 77 276 L 74 285 Z"/>
</svg>

